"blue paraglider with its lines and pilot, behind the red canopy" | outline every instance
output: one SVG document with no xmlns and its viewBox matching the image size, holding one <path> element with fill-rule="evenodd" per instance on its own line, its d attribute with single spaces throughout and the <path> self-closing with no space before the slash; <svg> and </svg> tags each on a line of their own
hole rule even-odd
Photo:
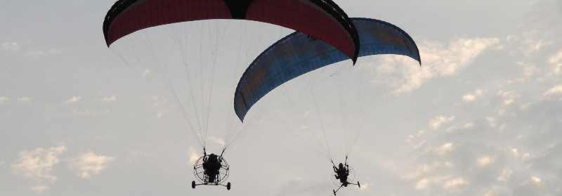
<svg viewBox="0 0 562 196">
<path fill-rule="evenodd" d="M 360 38 L 360 57 L 377 54 L 405 55 L 417 60 L 421 65 L 419 49 L 417 48 L 414 40 L 404 30 L 381 20 L 369 18 L 352 18 L 351 20 L 355 24 Z M 263 96 L 266 96 L 266 94 L 270 91 L 277 88 L 277 86 L 306 74 L 307 72 L 311 72 L 319 69 L 320 67 L 332 65 L 347 59 L 348 58 L 344 55 L 344 53 L 337 51 L 336 48 L 329 46 L 329 44 L 326 44 L 324 41 L 316 39 L 314 35 L 304 34 L 301 32 L 289 34 L 287 37 L 284 37 L 275 44 L 272 44 L 266 49 L 266 51 L 263 51 L 263 53 L 261 53 L 249 65 L 249 67 L 247 67 L 238 82 L 234 95 L 235 113 L 239 117 L 240 121 L 243 122 L 244 117 L 247 115 L 250 108 L 263 98 Z M 332 77 L 332 80 L 336 80 L 337 82 L 339 79 Z M 341 84 L 342 82 L 344 81 L 339 81 L 340 84 L 336 85 L 339 86 L 340 91 L 353 89 L 349 87 L 344 89 L 344 85 Z M 322 84 L 326 84 L 326 82 L 322 81 Z M 346 118 L 346 112 L 344 111 L 347 110 L 345 109 L 347 106 L 344 105 L 349 105 L 349 102 L 353 101 L 346 100 L 342 96 L 344 94 L 350 95 L 350 93 L 339 92 L 339 101 L 336 101 L 336 103 L 328 102 L 326 105 L 323 105 L 324 107 L 319 107 L 313 88 L 311 87 L 306 91 L 311 93 L 311 100 L 313 101 L 312 105 L 314 105 L 315 113 L 318 115 L 320 130 L 322 131 L 327 155 L 329 157 L 331 156 L 329 155 L 329 140 L 327 139 L 325 131 L 325 122 L 323 122 L 319 109 L 340 105 L 342 128 L 344 128 L 344 130 L 340 132 L 345 135 L 345 132 L 351 130 L 346 130 L 346 123 L 344 121 L 349 119 L 358 119 L 358 117 Z M 324 99 L 328 97 L 332 96 L 325 95 Z M 361 97 L 362 96 L 355 96 L 355 98 Z M 303 100 L 299 100 L 298 102 L 302 103 Z M 364 107 L 364 105 L 359 104 L 359 107 Z M 355 114 L 357 113 L 360 112 L 355 111 Z M 359 130 L 355 129 L 355 131 L 358 133 Z M 347 136 L 345 137 L 347 138 Z M 358 138 L 358 135 L 356 135 L 355 138 Z M 336 178 L 336 180 L 340 183 L 339 188 L 332 190 L 334 195 L 336 195 L 336 192 L 338 192 L 341 188 L 347 187 L 348 185 L 357 185 L 360 187 L 359 181 L 357 181 L 357 183 L 352 183 L 349 178 L 350 168 L 347 163 L 347 158 L 348 153 L 350 153 L 352 149 L 353 148 L 348 148 L 348 146 L 346 146 L 346 150 L 344 150 L 346 153 L 346 161 L 344 163 L 340 163 L 336 166 L 332 159 L 332 169 L 335 173 L 334 178 Z"/>
</svg>

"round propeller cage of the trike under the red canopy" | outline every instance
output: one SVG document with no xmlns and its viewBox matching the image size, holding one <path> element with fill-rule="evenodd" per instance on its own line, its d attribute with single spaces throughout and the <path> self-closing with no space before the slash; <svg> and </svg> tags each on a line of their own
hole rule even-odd
<svg viewBox="0 0 562 196">
<path fill-rule="evenodd" d="M 230 164 L 226 162 L 226 159 L 223 157 L 218 157 L 218 162 L 221 163 L 221 169 L 218 172 L 218 178 L 216 178 L 214 183 L 209 183 L 209 176 L 204 174 L 205 170 L 203 169 L 203 159 L 209 158 L 209 155 L 205 155 L 197 159 L 197 162 L 193 164 L 193 176 L 197 178 L 197 181 L 204 185 L 220 185 L 221 183 L 228 180 L 228 176 L 230 175 Z"/>
</svg>

